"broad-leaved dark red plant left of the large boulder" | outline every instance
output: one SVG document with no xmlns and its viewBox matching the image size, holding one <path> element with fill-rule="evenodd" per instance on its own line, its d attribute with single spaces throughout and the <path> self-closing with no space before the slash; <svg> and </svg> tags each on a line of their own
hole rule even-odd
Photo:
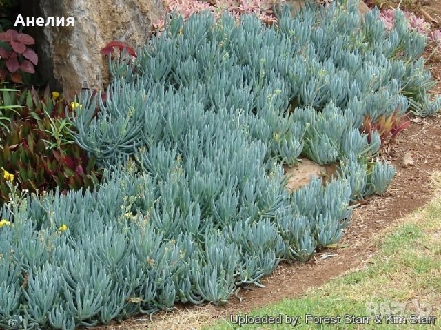
<svg viewBox="0 0 441 330">
<path fill-rule="evenodd" d="M 28 47 L 35 41 L 29 34 L 9 29 L 0 33 L 0 81 L 10 75 L 14 83 L 23 83 L 23 72 L 35 73 L 34 65 L 39 59 L 37 54 Z"/>
</svg>

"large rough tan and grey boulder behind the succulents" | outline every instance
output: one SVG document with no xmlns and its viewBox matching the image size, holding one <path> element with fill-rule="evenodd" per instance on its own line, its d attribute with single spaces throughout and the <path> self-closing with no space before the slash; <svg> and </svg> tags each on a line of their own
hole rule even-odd
<svg viewBox="0 0 441 330">
<path fill-rule="evenodd" d="M 106 61 L 99 51 L 112 40 L 139 46 L 162 14 L 161 0 L 22 0 L 23 17 L 74 17 L 74 26 L 28 28 L 37 39 L 39 74 L 72 98 L 81 87 L 101 89 Z"/>
</svg>

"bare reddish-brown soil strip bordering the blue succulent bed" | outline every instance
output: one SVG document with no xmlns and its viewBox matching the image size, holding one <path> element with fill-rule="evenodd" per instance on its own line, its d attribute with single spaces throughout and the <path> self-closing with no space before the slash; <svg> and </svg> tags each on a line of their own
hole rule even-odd
<svg viewBox="0 0 441 330">
<path fill-rule="evenodd" d="M 411 0 L 404 0 L 402 5 L 406 1 L 408 5 L 411 3 Z M 369 4 L 373 2 L 369 1 Z M 393 4 L 393 1 L 377 2 L 384 2 L 383 8 Z M 433 18 L 433 28 L 440 27 L 441 1 L 412 0 L 412 3 L 416 3 L 416 7 L 410 9 L 420 13 L 423 10 Z M 425 18 L 429 21 L 428 17 Z M 427 54 L 430 54 L 430 51 Z M 438 85 L 432 92 L 441 94 L 440 55 L 433 56 L 428 65 L 433 77 L 438 80 Z M 121 324 L 112 324 L 105 328 L 198 329 L 196 324 L 207 324 L 214 318 L 228 317 L 230 313 L 246 312 L 283 298 L 300 296 L 309 287 L 319 287 L 330 278 L 364 267 L 377 249 L 373 245 L 372 237 L 387 229 L 394 221 L 422 207 L 431 197 L 431 174 L 435 170 L 441 170 L 440 136 L 441 116 L 412 118 L 411 126 L 398 134 L 396 141 L 391 143 L 387 152 L 382 155 L 396 166 L 393 183 L 384 196 L 369 198 L 365 205 L 354 210 L 351 223 L 345 229 L 340 242 L 346 247 L 320 251 L 306 264 L 280 265 L 274 274 L 263 279 L 265 287 L 240 290 L 238 295 L 241 301 L 233 297 L 227 305 L 221 307 L 178 307 L 178 311 L 174 313 L 158 313 L 154 316 L 154 322 L 150 322 L 148 316 L 135 316 Z M 411 154 L 413 166 L 403 168 L 400 167 L 400 163 L 406 152 Z"/>
</svg>

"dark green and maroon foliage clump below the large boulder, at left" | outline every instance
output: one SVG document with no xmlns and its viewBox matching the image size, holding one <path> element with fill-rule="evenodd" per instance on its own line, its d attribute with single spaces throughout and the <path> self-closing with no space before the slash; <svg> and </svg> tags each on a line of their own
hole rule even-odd
<svg viewBox="0 0 441 330">
<path fill-rule="evenodd" d="M 63 99 L 54 99 L 49 90 L 4 90 L 2 107 L 12 107 L 2 123 L 0 167 L 17 176 L 19 187 L 30 192 L 59 187 L 82 189 L 98 183 L 100 174 L 94 160 L 74 143 L 71 124 L 65 118 Z M 3 176 L 3 173 L 2 173 Z M 6 178 L 0 181 L 1 203 L 10 192 Z"/>
</svg>

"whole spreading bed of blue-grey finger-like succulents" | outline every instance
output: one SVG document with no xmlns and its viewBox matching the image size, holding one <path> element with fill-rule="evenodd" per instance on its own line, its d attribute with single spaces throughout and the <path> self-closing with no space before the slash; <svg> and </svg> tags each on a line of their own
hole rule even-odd
<svg viewBox="0 0 441 330">
<path fill-rule="evenodd" d="M 360 127 L 411 109 L 415 94 L 404 93 L 424 43 L 402 42 L 400 24 L 383 33 L 375 13 L 358 29 L 355 3 L 336 2 L 294 18 L 287 8 L 271 27 L 251 15 L 175 17 L 136 58 L 110 59 L 105 99 L 83 94 L 63 125 L 45 121 L 45 151 L 70 148 L 57 136 L 71 134 L 105 174 L 84 192 L 12 189 L 0 271 L 17 289 L 0 283 L 0 327 L 74 329 L 176 302 L 224 304 L 280 260 L 336 243 L 351 199 L 391 181 L 393 167 L 369 163 L 380 134 Z M 302 154 L 338 161 L 340 178 L 288 192 L 282 165 Z"/>
</svg>

